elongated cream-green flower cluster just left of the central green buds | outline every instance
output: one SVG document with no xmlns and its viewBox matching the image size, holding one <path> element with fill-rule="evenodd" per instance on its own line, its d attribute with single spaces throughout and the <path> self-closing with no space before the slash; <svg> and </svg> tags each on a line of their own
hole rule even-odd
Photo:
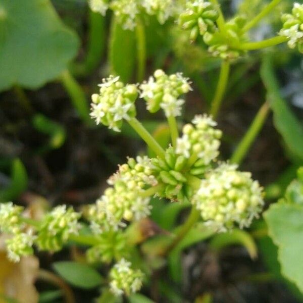
<svg viewBox="0 0 303 303">
<path fill-rule="evenodd" d="M 124 227 L 123 220 L 140 220 L 150 214 L 149 197 L 141 196 L 144 186 L 156 185 L 152 175 L 150 160 L 147 157 L 128 159 L 127 164 L 119 167 L 116 174 L 109 178 L 113 185 L 90 206 L 91 229 L 100 234 L 111 229 Z"/>
</svg>

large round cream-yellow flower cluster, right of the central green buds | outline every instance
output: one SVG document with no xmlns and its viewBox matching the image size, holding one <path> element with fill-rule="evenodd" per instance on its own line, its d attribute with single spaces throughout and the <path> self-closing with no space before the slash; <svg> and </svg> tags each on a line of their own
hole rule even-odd
<svg viewBox="0 0 303 303">
<path fill-rule="evenodd" d="M 264 205 L 262 187 L 248 172 L 236 165 L 221 164 L 206 174 L 192 204 L 201 212 L 207 225 L 226 231 L 238 224 L 248 227 Z"/>
</svg>

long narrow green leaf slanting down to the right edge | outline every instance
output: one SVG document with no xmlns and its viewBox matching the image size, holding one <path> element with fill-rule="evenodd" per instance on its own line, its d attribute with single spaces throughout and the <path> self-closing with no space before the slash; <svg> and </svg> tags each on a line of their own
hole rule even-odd
<svg viewBox="0 0 303 303">
<path fill-rule="evenodd" d="M 303 127 L 281 97 L 279 83 L 269 56 L 261 67 L 261 78 L 267 89 L 267 99 L 274 113 L 274 124 L 291 153 L 303 161 Z"/>
</svg>

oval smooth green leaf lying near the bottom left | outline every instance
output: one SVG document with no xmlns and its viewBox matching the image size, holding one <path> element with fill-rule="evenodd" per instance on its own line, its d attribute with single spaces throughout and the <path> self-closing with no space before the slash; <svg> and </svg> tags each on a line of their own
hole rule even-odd
<svg viewBox="0 0 303 303">
<path fill-rule="evenodd" d="M 71 261 L 53 263 L 55 271 L 70 284 L 80 288 L 94 288 L 103 282 L 103 277 L 92 267 Z"/>
</svg>

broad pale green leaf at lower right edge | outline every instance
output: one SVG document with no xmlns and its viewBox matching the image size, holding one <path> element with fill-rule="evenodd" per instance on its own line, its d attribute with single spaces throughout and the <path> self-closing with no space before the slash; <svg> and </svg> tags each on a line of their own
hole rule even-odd
<svg viewBox="0 0 303 303">
<path fill-rule="evenodd" d="M 264 218 L 278 246 L 282 274 L 303 292 L 303 206 L 282 201 L 271 205 Z"/>
</svg>

